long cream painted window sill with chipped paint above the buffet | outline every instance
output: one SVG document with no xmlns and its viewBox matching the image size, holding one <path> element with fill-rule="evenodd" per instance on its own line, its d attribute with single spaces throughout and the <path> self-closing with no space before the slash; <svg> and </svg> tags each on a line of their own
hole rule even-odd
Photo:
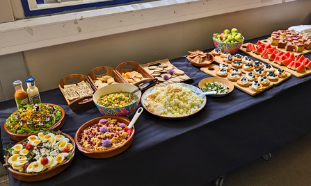
<svg viewBox="0 0 311 186">
<path fill-rule="evenodd" d="M 163 26 L 284 0 L 164 0 L 0 24 L 0 55 Z"/>
</svg>

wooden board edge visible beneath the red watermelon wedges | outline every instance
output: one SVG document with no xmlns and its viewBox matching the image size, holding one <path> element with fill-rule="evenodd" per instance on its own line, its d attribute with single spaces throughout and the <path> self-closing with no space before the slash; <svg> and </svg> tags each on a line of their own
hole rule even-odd
<svg viewBox="0 0 311 186">
<path fill-rule="evenodd" d="M 280 68 L 280 69 L 284 69 L 285 71 L 289 72 L 289 74 L 292 74 L 293 76 L 295 76 L 296 78 L 302 78 L 304 76 L 308 76 L 311 74 L 311 69 L 306 69 L 305 71 L 303 72 L 298 72 L 298 71 L 294 71 L 292 69 L 289 69 L 287 68 L 286 66 L 284 65 L 278 65 L 278 63 L 275 63 L 273 61 L 270 61 L 269 59 L 265 59 L 265 58 L 262 58 L 262 56 L 260 56 L 260 54 L 256 54 L 256 53 L 253 53 L 252 51 L 246 51 L 246 47 L 247 47 L 247 44 L 242 44 L 242 47 L 240 48 L 240 51 L 246 53 L 248 56 L 252 56 L 253 58 L 256 58 L 258 60 L 261 60 L 262 62 L 266 62 L 267 64 L 270 64 L 272 65 L 273 67 L 276 67 L 276 68 Z M 271 54 L 269 54 L 270 56 Z M 268 56 L 268 58 L 269 58 Z"/>
</svg>

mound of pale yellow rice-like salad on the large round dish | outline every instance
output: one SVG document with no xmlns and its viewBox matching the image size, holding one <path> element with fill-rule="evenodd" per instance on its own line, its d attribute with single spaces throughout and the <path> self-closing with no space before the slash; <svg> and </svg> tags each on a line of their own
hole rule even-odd
<svg viewBox="0 0 311 186">
<path fill-rule="evenodd" d="M 204 99 L 189 87 L 176 83 L 154 87 L 143 101 L 147 110 L 156 115 L 183 117 L 197 112 Z"/>
</svg>

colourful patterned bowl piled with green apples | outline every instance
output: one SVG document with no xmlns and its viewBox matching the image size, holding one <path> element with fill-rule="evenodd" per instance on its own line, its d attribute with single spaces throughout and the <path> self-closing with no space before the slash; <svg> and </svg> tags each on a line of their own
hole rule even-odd
<svg viewBox="0 0 311 186">
<path fill-rule="evenodd" d="M 225 29 L 223 33 L 214 33 L 213 42 L 217 49 L 220 49 L 222 52 L 228 51 L 231 54 L 237 53 L 241 48 L 244 37 L 237 30 L 237 28 Z"/>
</svg>

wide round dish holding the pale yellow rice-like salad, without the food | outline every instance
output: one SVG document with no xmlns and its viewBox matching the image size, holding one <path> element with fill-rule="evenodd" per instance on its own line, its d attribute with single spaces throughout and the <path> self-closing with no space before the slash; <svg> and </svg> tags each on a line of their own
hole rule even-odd
<svg viewBox="0 0 311 186">
<path fill-rule="evenodd" d="M 166 83 L 164 85 L 167 86 L 167 85 L 173 85 L 173 84 L 177 84 L 177 83 Z M 179 83 L 179 84 L 184 86 L 184 87 L 188 87 L 190 90 L 192 90 L 195 93 L 202 93 L 203 92 L 198 87 L 195 87 L 193 85 L 188 85 L 188 84 L 184 84 L 184 83 Z M 152 114 L 152 115 L 154 115 L 156 117 L 160 117 L 160 118 L 163 118 L 163 119 L 184 119 L 186 117 L 191 117 L 191 116 L 195 115 L 196 113 L 200 112 L 200 110 L 202 110 L 205 107 L 205 105 L 206 105 L 207 99 L 206 99 L 206 96 L 204 96 L 203 97 L 203 102 L 202 102 L 202 105 L 200 106 L 200 108 L 196 112 L 193 112 L 191 115 L 185 115 L 185 116 L 182 116 L 182 117 L 166 117 L 166 116 L 162 116 L 162 115 L 157 115 L 154 112 L 151 112 L 150 110 L 147 109 L 147 106 L 145 105 L 145 97 L 147 97 L 147 94 L 150 94 L 152 92 L 152 90 L 154 90 L 154 88 L 156 88 L 158 86 L 159 85 L 156 85 L 154 87 L 150 87 L 148 90 L 146 90 L 143 93 L 143 96 L 141 96 L 141 105 L 143 105 L 143 108 L 145 108 L 145 110 L 147 110 L 147 112 L 149 112 L 150 114 Z"/>
</svg>

